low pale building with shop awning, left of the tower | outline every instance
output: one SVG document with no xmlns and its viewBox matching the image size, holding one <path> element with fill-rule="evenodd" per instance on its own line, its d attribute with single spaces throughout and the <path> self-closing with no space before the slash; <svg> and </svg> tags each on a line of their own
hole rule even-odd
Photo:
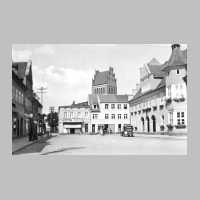
<svg viewBox="0 0 200 200">
<path fill-rule="evenodd" d="M 90 110 L 88 102 L 70 106 L 59 106 L 59 133 L 87 133 L 90 123 Z"/>
</svg>

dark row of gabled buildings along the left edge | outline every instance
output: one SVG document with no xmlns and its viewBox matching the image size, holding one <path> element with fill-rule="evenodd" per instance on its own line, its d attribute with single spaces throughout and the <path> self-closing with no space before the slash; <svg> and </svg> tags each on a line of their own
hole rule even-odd
<svg viewBox="0 0 200 200">
<path fill-rule="evenodd" d="M 41 109 L 33 95 L 32 62 L 12 62 L 12 137 L 29 135 Z"/>
</svg>

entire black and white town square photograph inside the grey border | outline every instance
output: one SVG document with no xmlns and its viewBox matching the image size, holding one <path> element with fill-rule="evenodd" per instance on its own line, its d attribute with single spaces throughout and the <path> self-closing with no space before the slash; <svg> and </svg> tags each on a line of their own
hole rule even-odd
<svg viewBox="0 0 200 200">
<path fill-rule="evenodd" d="M 187 44 L 13 44 L 12 155 L 187 155 Z"/>
</svg>

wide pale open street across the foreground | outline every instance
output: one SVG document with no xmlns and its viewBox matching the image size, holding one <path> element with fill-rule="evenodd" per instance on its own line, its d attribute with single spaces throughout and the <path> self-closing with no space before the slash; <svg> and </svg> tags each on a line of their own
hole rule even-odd
<svg viewBox="0 0 200 200">
<path fill-rule="evenodd" d="M 186 136 L 56 135 L 15 155 L 187 155 Z"/>
</svg>

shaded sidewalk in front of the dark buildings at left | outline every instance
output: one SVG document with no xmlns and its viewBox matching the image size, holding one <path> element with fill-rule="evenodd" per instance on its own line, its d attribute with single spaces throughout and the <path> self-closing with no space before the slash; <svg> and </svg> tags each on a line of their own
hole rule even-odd
<svg viewBox="0 0 200 200">
<path fill-rule="evenodd" d="M 15 151 L 18 151 L 20 149 L 23 149 L 31 144 L 34 144 L 38 141 L 40 141 L 42 138 L 48 137 L 46 134 L 42 136 L 38 136 L 37 140 L 29 141 L 28 136 L 22 137 L 22 138 L 16 138 L 12 140 L 12 153 Z"/>
</svg>

